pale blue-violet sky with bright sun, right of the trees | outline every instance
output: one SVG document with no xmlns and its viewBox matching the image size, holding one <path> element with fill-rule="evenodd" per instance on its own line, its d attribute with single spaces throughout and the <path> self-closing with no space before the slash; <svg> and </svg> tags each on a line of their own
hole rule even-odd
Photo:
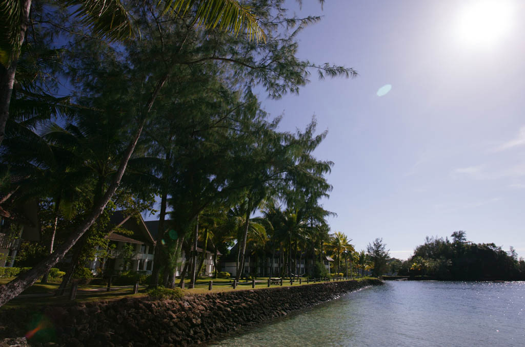
<svg viewBox="0 0 525 347">
<path fill-rule="evenodd" d="M 298 56 L 359 72 L 311 83 L 262 106 L 280 129 L 316 116 L 314 152 L 335 165 L 324 208 L 356 250 L 383 238 L 406 259 L 425 236 L 464 230 L 525 256 L 525 2 L 288 3 L 323 20 Z"/>
</svg>

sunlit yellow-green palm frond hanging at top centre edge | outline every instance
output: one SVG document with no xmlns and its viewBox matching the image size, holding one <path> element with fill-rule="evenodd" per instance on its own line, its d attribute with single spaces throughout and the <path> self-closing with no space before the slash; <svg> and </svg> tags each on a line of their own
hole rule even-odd
<svg viewBox="0 0 525 347">
<path fill-rule="evenodd" d="M 185 14 L 194 6 L 198 25 L 231 31 L 235 35 L 246 28 L 246 35 L 250 40 L 255 38 L 266 42 L 266 34 L 251 12 L 252 8 L 241 5 L 237 0 L 166 0 L 163 14 Z"/>
</svg>

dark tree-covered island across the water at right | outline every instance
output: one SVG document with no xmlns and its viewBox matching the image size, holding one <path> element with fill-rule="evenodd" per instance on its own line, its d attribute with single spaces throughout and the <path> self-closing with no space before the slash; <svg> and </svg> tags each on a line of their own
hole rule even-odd
<svg viewBox="0 0 525 347">
<path fill-rule="evenodd" d="M 451 237 L 427 236 L 406 261 L 389 259 L 391 272 L 412 279 L 525 280 L 525 261 L 513 247 L 506 252 L 493 243 L 472 243 L 464 231 Z"/>
</svg>

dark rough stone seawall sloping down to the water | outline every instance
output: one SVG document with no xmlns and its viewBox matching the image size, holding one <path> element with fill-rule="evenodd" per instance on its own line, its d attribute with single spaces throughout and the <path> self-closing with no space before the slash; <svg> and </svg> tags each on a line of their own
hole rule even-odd
<svg viewBox="0 0 525 347">
<path fill-rule="evenodd" d="M 56 344 L 40 343 L 36 338 L 29 342 L 31 346 L 68 347 L 186 346 L 338 298 L 353 290 L 381 284 L 376 279 L 348 280 L 211 292 L 180 300 L 121 299 L 46 307 L 41 310 L 40 338 L 47 335 L 46 340 Z M 14 317 L 14 312 L 9 311 L 0 314 L 0 336 L 26 335 L 27 324 L 35 320 L 35 312 L 18 312 Z"/>
</svg>

